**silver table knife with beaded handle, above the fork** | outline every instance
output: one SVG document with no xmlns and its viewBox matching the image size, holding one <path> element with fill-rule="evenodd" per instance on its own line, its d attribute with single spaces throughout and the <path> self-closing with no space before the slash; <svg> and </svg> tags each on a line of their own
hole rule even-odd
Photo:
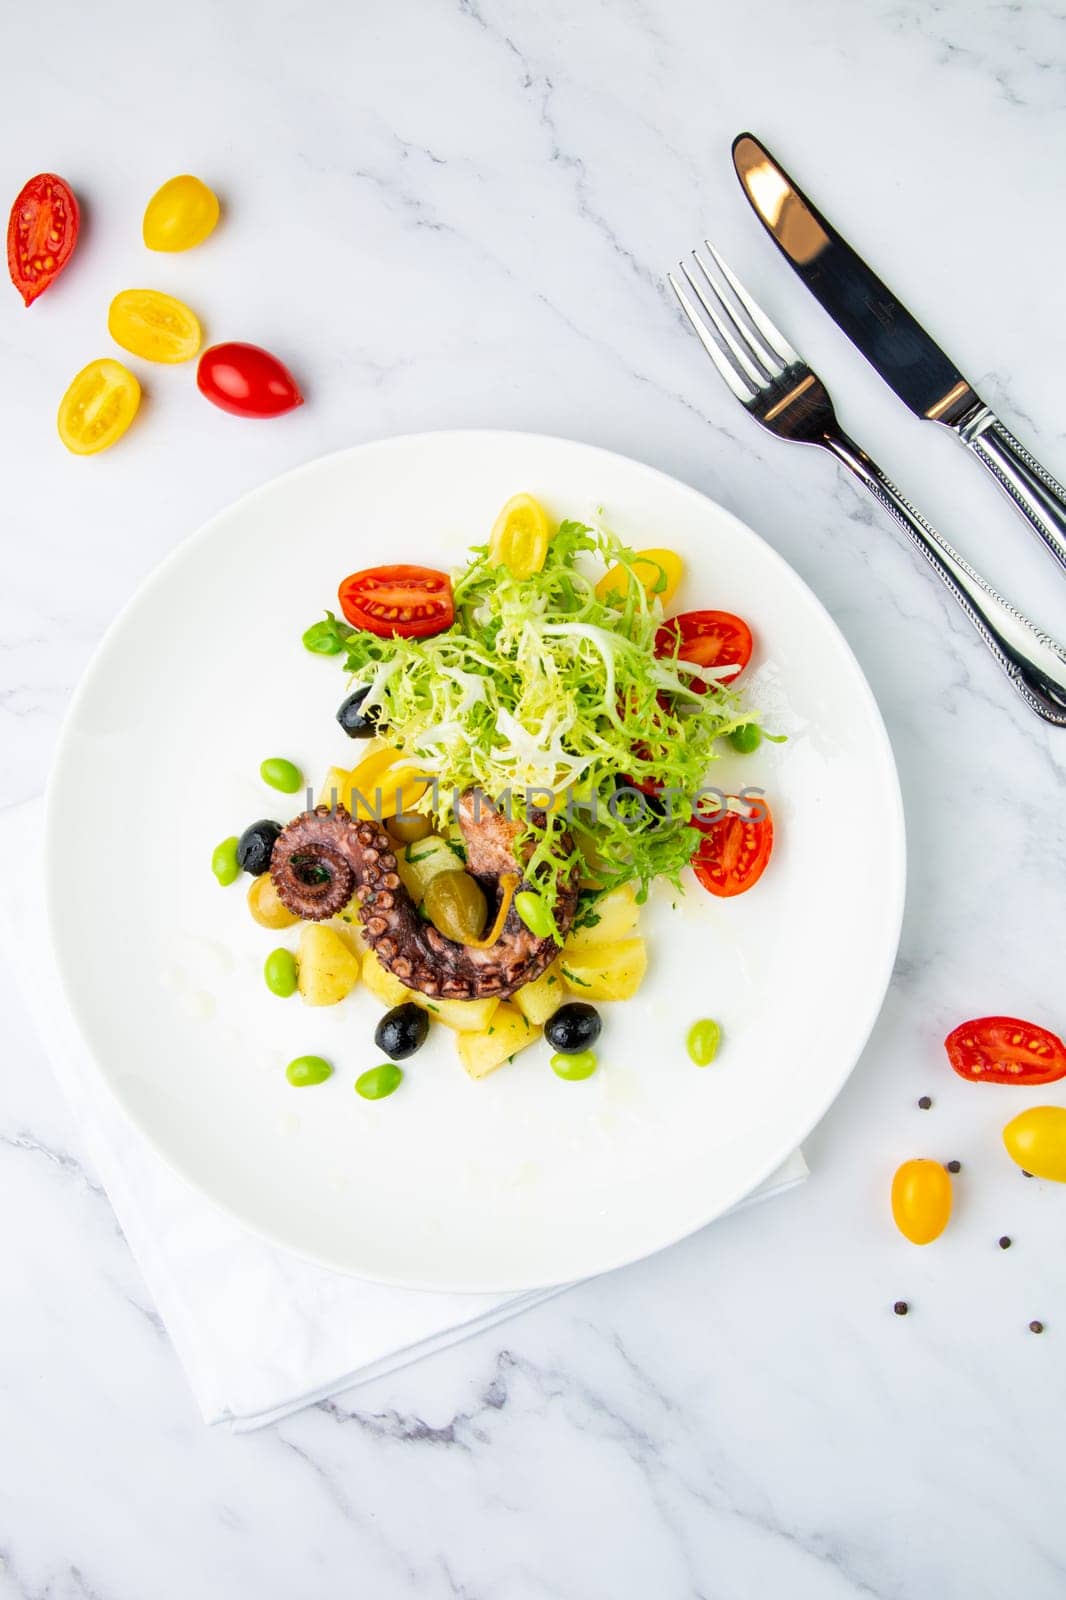
<svg viewBox="0 0 1066 1600">
<path fill-rule="evenodd" d="M 916 416 L 943 422 L 988 467 L 1066 568 L 1066 490 L 984 405 L 959 368 L 751 133 L 733 165 L 755 216 L 816 301 Z"/>
</svg>

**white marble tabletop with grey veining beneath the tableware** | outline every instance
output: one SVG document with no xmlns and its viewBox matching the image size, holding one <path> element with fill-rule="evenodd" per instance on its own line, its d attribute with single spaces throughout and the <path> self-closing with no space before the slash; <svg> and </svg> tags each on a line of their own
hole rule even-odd
<svg viewBox="0 0 1066 1600">
<path fill-rule="evenodd" d="M 741 414 L 661 280 L 711 232 L 845 424 L 1064 635 L 1061 574 L 804 298 L 728 163 L 763 134 L 1063 475 L 1060 0 L 53 0 L 0 21 L 0 104 L 3 192 L 56 168 L 86 200 L 54 291 L 0 298 L 3 803 L 206 515 L 355 440 L 496 424 L 640 456 L 765 534 L 871 678 L 911 837 L 895 982 L 805 1189 L 243 1438 L 197 1421 L 0 974 L 0 1594 L 1060 1597 L 1066 1194 L 999 1149 L 1023 1093 L 956 1082 L 940 1040 L 983 1011 L 1066 1026 L 1066 741 L 860 491 Z M 141 206 L 182 170 L 224 227 L 149 259 Z M 304 410 L 242 424 L 160 370 L 122 448 L 67 456 L 58 395 L 138 282 L 274 347 Z M 917 1154 L 962 1162 L 927 1251 L 887 1219 Z"/>
</svg>

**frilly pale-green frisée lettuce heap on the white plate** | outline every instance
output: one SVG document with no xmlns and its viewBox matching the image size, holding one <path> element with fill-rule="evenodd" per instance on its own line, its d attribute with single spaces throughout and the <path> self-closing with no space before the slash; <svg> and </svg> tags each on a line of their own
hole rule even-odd
<svg viewBox="0 0 1066 1600">
<path fill-rule="evenodd" d="M 602 573 L 584 570 L 595 558 L 631 573 L 624 598 L 597 598 Z M 656 659 L 663 608 L 632 576 L 634 558 L 613 534 L 563 522 L 530 578 L 475 546 L 453 576 L 456 614 L 443 634 L 378 638 L 333 613 L 304 634 L 307 650 L 344 654 L 352 678 L 370 685 L 363 709 L 378 707 L 397 747 L 434 776 L 418 810 L 440 821 L 453 790 L 469 787 L 498 803 L 511 797 L 522 816 L 528 790 L 539 790 L 530 810 L 555 797 L 543 826 L 527 818 L 520 840 L 549 906 L 575 866 L 602 890 L 635 882 L 639 899 L 658 877 L 677 885 L 699 842 L 688 802 L 717 741 L 755 720 L 723 682 L 728 669 Z M 655 803 L 629 786 L 674 797 Z"/>
</svg>

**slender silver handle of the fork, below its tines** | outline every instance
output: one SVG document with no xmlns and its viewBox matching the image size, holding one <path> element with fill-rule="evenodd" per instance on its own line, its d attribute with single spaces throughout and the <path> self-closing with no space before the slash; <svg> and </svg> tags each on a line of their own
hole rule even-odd
<svg viewBox="0 0 1066 1600">
<path fill-rule="evenodd" d="M 1044 722 L 1066 728 L 1066 650 L 975 573 L 853 438 L 844 432 L 831 432 L 823 443 L 917 544 L 1029 709 Z"/>
</svg>

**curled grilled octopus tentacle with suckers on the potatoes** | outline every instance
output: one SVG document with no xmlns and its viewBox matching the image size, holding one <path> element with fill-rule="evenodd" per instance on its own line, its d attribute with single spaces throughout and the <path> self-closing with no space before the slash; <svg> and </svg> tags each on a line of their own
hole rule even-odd
<svg viewBox="0 0 1066 1600">
<path fill-rule="evenodd" d="M 459 829 L 467 872 L 488 898 L 490 926 L 499 910 L 501 877 L 522 878 L 515 858 L 519 822 L 503 816 L 485 795 L 459 798 Z M 571 850 L 568 835 L 562 848 Z M 408 989 L 442 1000 L 506 998 L 539 978 L 559 954 L 551 938 L 530 933 L 514 902 L 495 944 L 479 949 L 447 939 L 423 922 L 395 866 L 394 843 L 378 822 L 352 818 L 344 806 L 315 806 L 279 835 L 271 858 L 279 899 L 304 922 L 325 922 L 355 896 L 367 942 L 378 960 Z M 517 890 L 536 888 L 520 882 Z M 578 904 L 576 874 L 560 888 L 555 922 L 565 934 Z"/>
</svg>

